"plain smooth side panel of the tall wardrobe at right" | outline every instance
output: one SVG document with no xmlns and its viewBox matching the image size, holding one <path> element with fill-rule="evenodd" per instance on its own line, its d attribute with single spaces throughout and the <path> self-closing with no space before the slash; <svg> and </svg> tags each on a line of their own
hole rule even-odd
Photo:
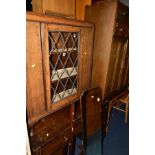
<svg viewBox="0 0 155 155">
<path fill-rule="evenodd" d="M 102 1 L 86 7 L 85 20 L 95 23 L 92 87 L 100 86 L 104 96 L 117 1 Z"/>
</svg>

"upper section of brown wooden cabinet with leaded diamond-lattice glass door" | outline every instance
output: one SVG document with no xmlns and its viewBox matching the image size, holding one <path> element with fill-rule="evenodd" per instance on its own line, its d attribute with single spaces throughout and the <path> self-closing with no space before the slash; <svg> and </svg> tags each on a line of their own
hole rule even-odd
<svg viewBox="0 0 155 155">
<path fill-rule="evenodd" d="M 33 126 L 90 87 L 94 27 L 27 13 L 26 28 L 27 120 Z"/>
</svg>

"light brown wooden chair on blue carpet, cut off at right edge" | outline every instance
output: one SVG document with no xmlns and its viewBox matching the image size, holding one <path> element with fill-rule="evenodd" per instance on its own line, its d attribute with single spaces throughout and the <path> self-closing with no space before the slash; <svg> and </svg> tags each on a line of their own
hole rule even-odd
<svg viewBox="0 0 155 155">
<path fill-rule="evenodd" d="M 125 108 L 123 107 L 125 106 Z M 128 121 L 128 112 L 129 112 L 129 91 L 123 91 L 122 93 L 114 96 L 109 101 L 109 112 L 108 112 L 108 120 L 110 119 L 110 114 L 112 108 L 122 111 L 125 113 L 125 123 Z"/>
</svg>

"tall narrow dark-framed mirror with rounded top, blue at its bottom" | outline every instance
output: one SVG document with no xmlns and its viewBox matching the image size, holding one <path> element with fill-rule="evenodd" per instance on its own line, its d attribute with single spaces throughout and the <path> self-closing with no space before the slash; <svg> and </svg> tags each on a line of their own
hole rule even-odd
<svg viewBox="0 0 155 155">
<path fill-rule="evenodd" d="M 96 87 L 84 91 L 80 98 L 80 105 L 82 111 L 83 155 L 90 154 L 90 150 L 96 150 L 96 148 L 98 148 L 100 154 L 103 154 L 108 105 L 102 102 L 101 88 Z M 96 155 L 96 152 L 93 153 L 92 151 L 91 155 Z"/>
</svg>

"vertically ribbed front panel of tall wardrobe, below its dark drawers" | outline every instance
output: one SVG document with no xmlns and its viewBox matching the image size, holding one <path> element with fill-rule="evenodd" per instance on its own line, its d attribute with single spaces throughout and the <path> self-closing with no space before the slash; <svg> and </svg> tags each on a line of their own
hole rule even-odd
<svg viewBox="0 0 155 155">
<path fill-rule="evenodd" d="M 124 87 L 122 78 L 124 76 L 125 61 L 128 54 L 127 51 L 128 40 L 125 38 L 114 37 L 111 47 L 105 96 L 110 95 L 112 92 L 115 93 Z"/>
</svg>

